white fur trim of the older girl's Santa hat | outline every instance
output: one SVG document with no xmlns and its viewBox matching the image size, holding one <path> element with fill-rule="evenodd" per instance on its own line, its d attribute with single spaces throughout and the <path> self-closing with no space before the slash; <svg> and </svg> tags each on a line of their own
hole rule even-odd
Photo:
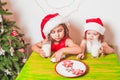
<svg viewBox="0 0 120 80">
<path fill-rule="evenodd" d="M 63 18 L 59 15 L 50 19 L 44 26 L 43 32 L 47 36 L 52 29 L 63 23 Z"/>
</svg>

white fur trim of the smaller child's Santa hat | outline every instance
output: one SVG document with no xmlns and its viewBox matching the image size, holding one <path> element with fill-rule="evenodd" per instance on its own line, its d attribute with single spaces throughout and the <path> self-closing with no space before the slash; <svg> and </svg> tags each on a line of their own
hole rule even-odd
<svg viewBox="0 0 120 80">
<path fill-rule="evenodd" d="M 86 32 L 87 30 L 95 30 L 99 32 L 101 35 L 104 35 L 105 32 L 105 28 L 103 26 L 94 22 L 90 22 L 84 25 L 84 32 Z"/>
</svg>

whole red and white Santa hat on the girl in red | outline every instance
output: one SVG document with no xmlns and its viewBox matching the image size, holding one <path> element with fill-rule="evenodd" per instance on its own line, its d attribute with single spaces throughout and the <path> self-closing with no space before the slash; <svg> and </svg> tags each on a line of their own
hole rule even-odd
<svg viewBox="0 0 120 80">
<path fill-rule="evenodd" d="M 58 13 L 48 14 L 45 16 L 41 22 L 41 33 L 43 39 L 47 37 L 53 28 L 61 23 L 63 23 L 63 18 Z"/>
</svg>

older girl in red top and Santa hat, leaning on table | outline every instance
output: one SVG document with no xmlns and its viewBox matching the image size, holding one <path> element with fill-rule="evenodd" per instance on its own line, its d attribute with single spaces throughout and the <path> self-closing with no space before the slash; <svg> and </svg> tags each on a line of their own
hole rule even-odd
<svg viewBox="0 0 120 80">
<path fill-rule="evenodd" d="M 69 37 L 69 31 L 63 19 L 58 13 L 47 15 L 41 23 L 43 41 L 32 46 L 32 50 L 46 57 L 42 50 L 42 43 L 51 41 L 52 57 L 56 62 L 60 61 L 63 55 L 81 53 L 81 48 Z"/>
</svg>

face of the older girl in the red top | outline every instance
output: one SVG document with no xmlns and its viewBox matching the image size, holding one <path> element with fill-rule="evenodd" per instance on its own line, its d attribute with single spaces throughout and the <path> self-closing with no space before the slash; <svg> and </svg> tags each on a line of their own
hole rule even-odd
<svg viewBox="0 0 120 80">
<path fill-rule="evenodd" d="M 63 39 L 64 34 L 65 34 L 64 28 L 62 25 L 60 25 L 51 31 L 50 36 L 53 40 L 60 41 L 61 39 Z"/>
</svg>

